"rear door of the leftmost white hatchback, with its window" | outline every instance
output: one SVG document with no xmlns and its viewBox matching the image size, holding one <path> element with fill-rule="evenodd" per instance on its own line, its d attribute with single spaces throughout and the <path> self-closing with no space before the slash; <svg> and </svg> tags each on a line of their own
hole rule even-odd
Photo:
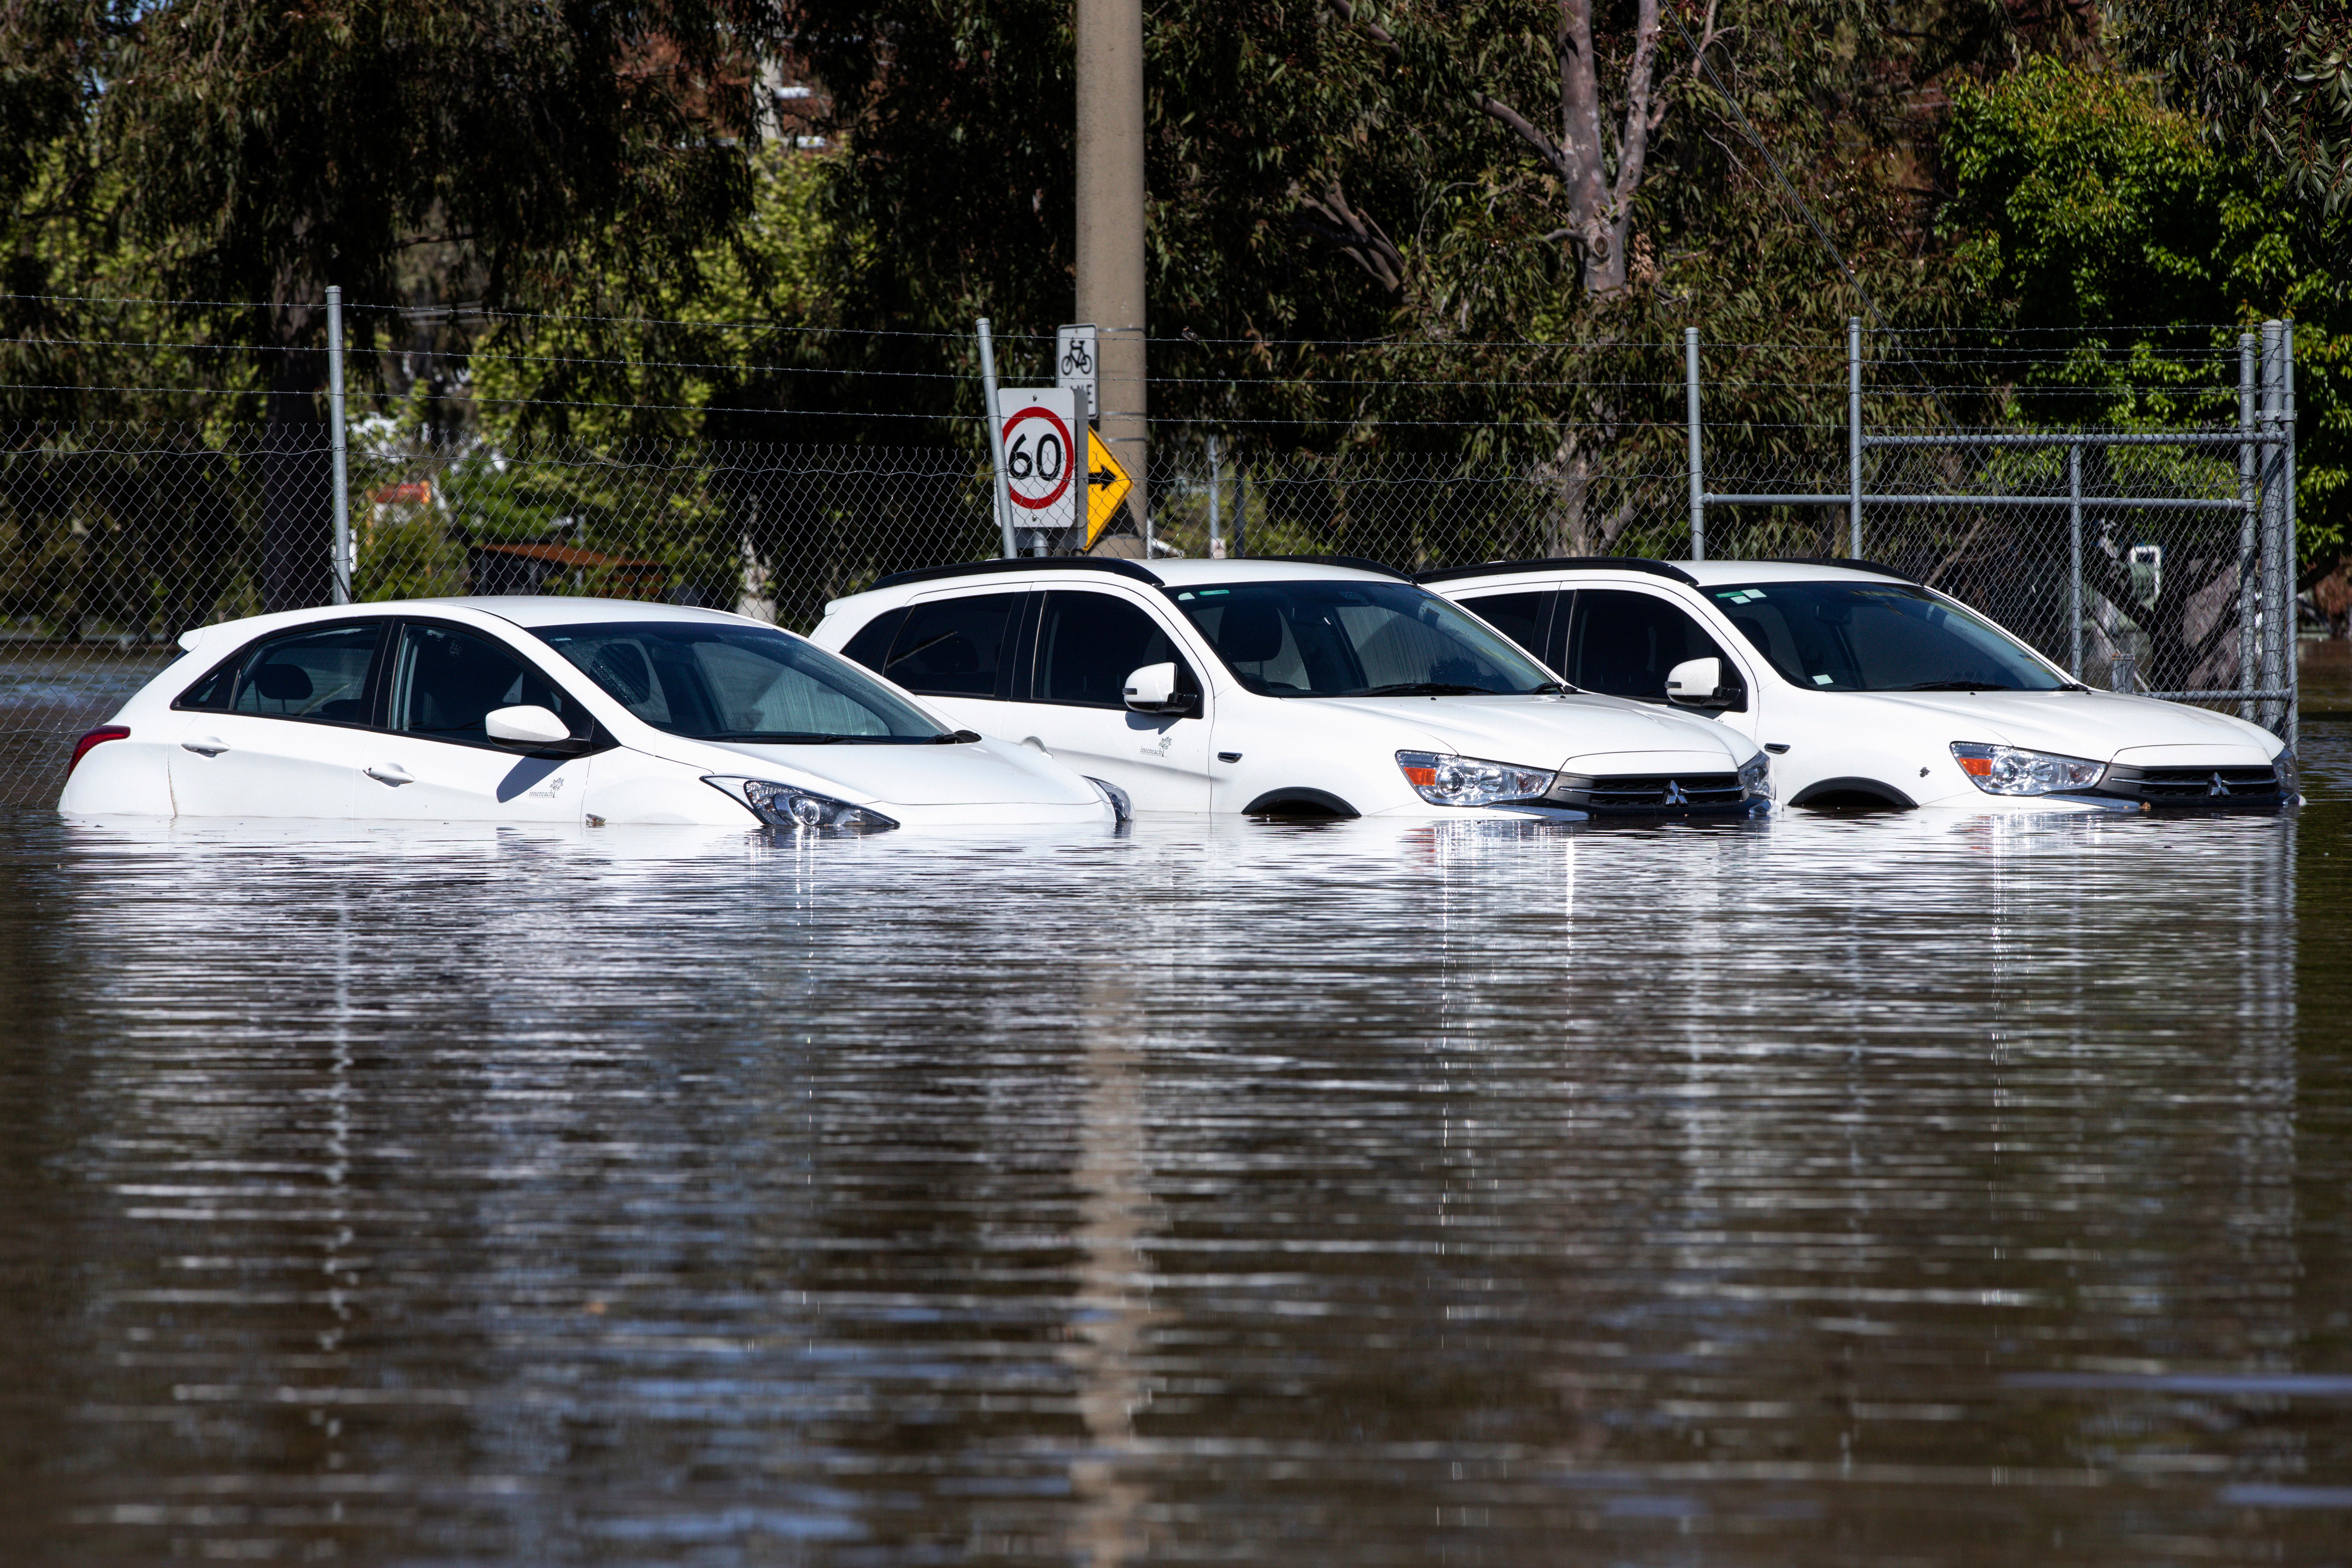
<svg viewBox="0 0 2352 1568">
<path fill-rule="evenodd" d="M 329 621 L 242 649 L 188 689 L 179 816 L 350 816 L 388 623 Z"/>
</svg>

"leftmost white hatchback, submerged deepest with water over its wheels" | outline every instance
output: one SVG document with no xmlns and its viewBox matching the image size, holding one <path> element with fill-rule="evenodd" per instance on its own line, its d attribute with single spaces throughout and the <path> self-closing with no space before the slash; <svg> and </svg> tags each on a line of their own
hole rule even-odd
<svg viewBox="0 0 2352 1568">
<path fill-rule="evenodd" d="M 487 597 L 205 625 L 82 736 L 71 816 L 1112 825 L 1115 790 L 715 609 Z"/>
</svg>

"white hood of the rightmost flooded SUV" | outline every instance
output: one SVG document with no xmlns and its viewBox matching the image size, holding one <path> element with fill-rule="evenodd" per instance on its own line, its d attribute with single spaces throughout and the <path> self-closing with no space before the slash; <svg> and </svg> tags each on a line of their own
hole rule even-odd
<svg viewBox="0 0 2352 1568">
<path fill-rule="evenodd" d="M 1875 691 L 1912 722 L 1940 724 L 1950 741 L 1990 741 L 2060 757 L 2114 762 L 2117 752 L 2143 748 L 2232 748 L 2270 759 L 2279 750 L 2270 731 L 2206 708 L 2159 703 L 2122 691 Z M 1891 717 L 1891 715 L 1889 715 Z M 1856 715 L 1858 724 L 1870 724 Z M 2150 757 L 2154 759 L 2154 757 Z"/>
</svg>

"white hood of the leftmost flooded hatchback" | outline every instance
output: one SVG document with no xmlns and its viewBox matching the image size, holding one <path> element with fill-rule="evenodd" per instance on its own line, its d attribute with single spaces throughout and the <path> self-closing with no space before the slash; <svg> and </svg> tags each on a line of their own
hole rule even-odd
<svg viewBox="0 0 2352 1568">
<path fill-rule="evenodd" d="M 1101 797 L 1084 778 L 1011 741 L 971 745 L 750 745 L 703 741 L 680 762 L 797 783 L 851 804 L 1061 806 Z"/>
</svg>

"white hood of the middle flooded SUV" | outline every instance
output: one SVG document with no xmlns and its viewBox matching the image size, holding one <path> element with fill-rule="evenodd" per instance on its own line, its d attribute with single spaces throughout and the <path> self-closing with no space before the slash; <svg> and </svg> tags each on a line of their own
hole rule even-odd
<svg viewBox="0 0 2352 1568">
<path fill-rule="evenodd" d="M 1461 752 L 1486 762 L 1557 769 L 1595 752 L 1679 752 L 1745 762 L 1748 736 L 1708 719 L 1616 696 L 1355 696 L 1310 698 L 1397 726 L 1399 750 Z"/>
</svg>

